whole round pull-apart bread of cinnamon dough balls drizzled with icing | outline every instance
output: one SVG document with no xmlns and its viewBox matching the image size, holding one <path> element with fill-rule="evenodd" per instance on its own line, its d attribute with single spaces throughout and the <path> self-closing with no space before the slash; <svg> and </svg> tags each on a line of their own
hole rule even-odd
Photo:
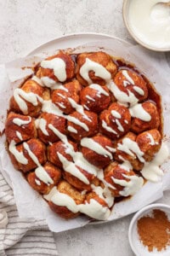
<svg viewBox="0 0 170 256">
<path fill-rule="evenodd" d="M 101 51 L 59 51 L 34 70 L 10 99 L 14 168 L 60 217 L 105 220 L 117 197 L 156 180 L 161 98 L 137 67 Z"/>
</svg>

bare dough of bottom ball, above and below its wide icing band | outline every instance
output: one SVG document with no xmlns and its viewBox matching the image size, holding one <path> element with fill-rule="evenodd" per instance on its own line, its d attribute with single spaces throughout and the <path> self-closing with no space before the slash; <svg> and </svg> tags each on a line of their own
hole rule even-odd
<svg viewBox="0 0 170 256">
<path fill-rule="evenodd" d="M 70 183 L 67 183 L 64 180 L 59 182 L 57 185 L 57 190 L 61 194 L 68 195 L 71 200 L 75 201 L 77 205 L 82 204 L 85 200 L 85 195 L 83 195 L 77 189 L 73 188 Z M 54 204 L 53 201 L 48 201 L 48 205 L 54 212 L 59 214 L 61 218 L 75 218 L 80 214 L 80 212 L 71 212 L 71 210 L 65 206 L 61 207 L 57 204 Z"/>
</svg>

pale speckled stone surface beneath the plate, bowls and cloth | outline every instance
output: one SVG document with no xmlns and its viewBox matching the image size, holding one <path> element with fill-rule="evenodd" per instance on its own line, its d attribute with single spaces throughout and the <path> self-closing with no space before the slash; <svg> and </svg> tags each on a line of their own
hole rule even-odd
<svg viewBox="0 0 170 256">
<path fill-rule="evenodd" d="M 26 55 L 48 40 L 74 32 L 100 32 L 133 44 L 122 20 L 122 0 L 0 0 L 0 63 Z M 161 55 L 161 54 L 159 54 Z M 170 54 L 167 54 L 170 62 Z M 170 204 L 170 192 L 161 202 Z M 133 256 L 132 218 L 55 234 L 60 256 Z"/>
</svg>

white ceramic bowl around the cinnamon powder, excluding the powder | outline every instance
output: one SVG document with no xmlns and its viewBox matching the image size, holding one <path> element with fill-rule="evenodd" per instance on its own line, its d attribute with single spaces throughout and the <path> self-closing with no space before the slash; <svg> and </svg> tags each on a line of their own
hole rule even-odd
<svg viewBox="0 0 170 256">
<path fill-rule="evenodd" d="M 133 253 L 137 256 L 169 256 L 170 255 L 170 247 L 168 246 L 166 250 L 162 250 L 161 252 L 157 252 L 154 250 L 153 252 L 150 252 L 147 250 L 146 247 L 144 247 L 139 240 L 139 235 L 137 231 L 137 222 L 139 218 L 142 218 L 143 216 L 150 214 L 154 209 L 159 209 L 162 212 L 165 212 L 167 214 L 167 217 L 170 219 L 170 206 L 167 206 L 165 204 L 151 204 L 147 207 L 142 208 L 139 212 L 136 212 L 136 214 L 133 216 L 131 223 L 129 225 L 128 230 L 128 240 L 130 243 L 130 246 L 133 250 Z"/>
</svg>

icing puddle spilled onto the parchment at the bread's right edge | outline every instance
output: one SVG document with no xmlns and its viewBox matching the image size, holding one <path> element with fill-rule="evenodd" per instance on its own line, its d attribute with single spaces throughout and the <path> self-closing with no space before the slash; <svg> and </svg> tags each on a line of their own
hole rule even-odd
<svg viewBox="0 0 170 256">
<path fill-rule="evenodd" d="M 169 156 L 169 150 L 165 143 L 161 144 L 161 148 L 156 154 L 155 158 L 150 162 L 144 163 L 144 167 L 141 171 L 143 177 L 151 182 L 158 182 L 161 180 L 161 176 L 163 176 L 163 171 L 161 170 L 161 164 L 167 160 Z"/>
</svg>

